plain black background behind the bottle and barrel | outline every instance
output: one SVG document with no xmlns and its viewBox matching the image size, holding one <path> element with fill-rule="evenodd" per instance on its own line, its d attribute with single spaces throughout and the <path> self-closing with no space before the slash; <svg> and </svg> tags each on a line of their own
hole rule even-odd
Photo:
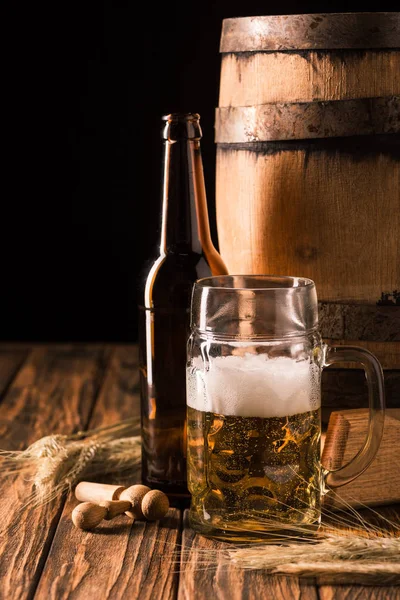
<svg viewBox="0 0 400 600">
<path fill-rule="evenodd" d="M 212 235 L 214 110 L 227 17 L 356 3 L 10 3 L 3 26 L 0 339 L 137 339 L 158 236 L 160 117 L 199 112 Z M 380 4 L 377 10 L 393 10 Z"/>
</svg>

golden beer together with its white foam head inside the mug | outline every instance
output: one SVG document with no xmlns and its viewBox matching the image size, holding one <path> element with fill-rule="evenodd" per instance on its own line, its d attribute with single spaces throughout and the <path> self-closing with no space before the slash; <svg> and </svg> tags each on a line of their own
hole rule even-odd
<svg viewBox="0 0 400 600">
<path fill-rule="evenodd" d="M 321 415 L 309 363 L 219 357 L 208 372 L 189 370 L 187 381 L 191 526 L 224 539 L 262 539 L 318 525 Z M 313 410 L 282 415 L 312 408 L 313 399 Z M 218 412 L 199 410 L 202 403 Z"/>
</svg>

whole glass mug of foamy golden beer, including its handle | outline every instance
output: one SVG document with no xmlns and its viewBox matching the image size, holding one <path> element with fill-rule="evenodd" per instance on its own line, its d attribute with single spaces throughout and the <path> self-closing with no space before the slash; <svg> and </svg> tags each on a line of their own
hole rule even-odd
<svg viewBox="0 0 400 600">
<path fill-rule="evenodd" d="M 327 346 L 314 282 L 226 275 L 194 284 L 187 346 L 187 461 L 191 527 L 262 541 L 318 529 L 321 498 L 371 463 L 383 433 L 384 388 L 367 350 Z M 321 465 L 321 372 L 361 363 L 370 419 L 347 465 Z"/>
</svg>

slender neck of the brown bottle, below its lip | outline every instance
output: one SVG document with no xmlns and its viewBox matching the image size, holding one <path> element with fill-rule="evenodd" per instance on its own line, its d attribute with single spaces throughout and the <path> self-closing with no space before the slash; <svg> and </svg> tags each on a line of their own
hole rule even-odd
<svg viewBox="0 0 400 600">
<path fill-rule="evenodd" d="M 161 251 L 201 254 L 211 243 L 200 142 L 164 140 Z"/>
</svg>

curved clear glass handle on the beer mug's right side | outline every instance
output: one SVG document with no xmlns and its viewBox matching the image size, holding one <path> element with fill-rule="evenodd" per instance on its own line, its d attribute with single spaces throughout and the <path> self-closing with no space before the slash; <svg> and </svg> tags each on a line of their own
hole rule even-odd
<svg viewBox="0 0 400 600">
<path fill-rule="evenodd" d="M 354 346 L 325 346 L 323 367 L 339 362 L 357 362 L 365 371 L 368 384 L 369 423 L 363 447 L 343 467 L 328 470 L 323 467 L 325 483 L 330 488 L 350 483 L 371 464 L 379 450 L 385 420 L 385 387 L 381 364 L 374 354 Z"/>
</svg>

